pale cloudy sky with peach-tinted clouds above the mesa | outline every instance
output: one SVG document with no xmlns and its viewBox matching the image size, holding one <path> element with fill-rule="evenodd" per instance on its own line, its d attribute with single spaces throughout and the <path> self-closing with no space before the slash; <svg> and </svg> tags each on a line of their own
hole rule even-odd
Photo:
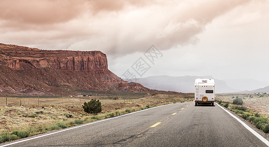
<svg viewBox="0 0 269 147">
<path fill-rule="evenodd" d="M 269 81 L 268 8 L 268 0 L 0 0 L 0 42 L 101 50 L 123 78 L 140 77 L 132 67 L 144 61 L 143 77 Z M 154 62 L 145 56 L 152 45 Z"/>
</svg>

